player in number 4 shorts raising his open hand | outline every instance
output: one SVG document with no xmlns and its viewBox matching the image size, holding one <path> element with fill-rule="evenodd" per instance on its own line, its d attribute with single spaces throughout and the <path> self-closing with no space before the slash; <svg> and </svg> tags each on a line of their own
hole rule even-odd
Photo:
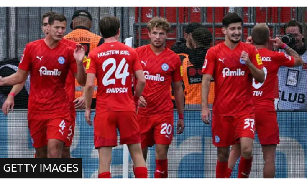
<svg viewBox="0 0 307 185">
<path fill-rule="evenodd" d="M 30 72 L 28 126 L 39 158 L 61 157 L 63 146 L 69 145 L 70 102 L 65 91 L 69 72 L 75 75 L 78 82 L 85 84 L 82 65 L 84 48 L 77 45 L 74 50 L 61 42 L 66 23 L 64 15 L 51 15 L 47 37 L 28 43 L 18 71 L 11 76 L 0 77 L 0 85 L 15 85 L 23 82 Z"/>
</svg>

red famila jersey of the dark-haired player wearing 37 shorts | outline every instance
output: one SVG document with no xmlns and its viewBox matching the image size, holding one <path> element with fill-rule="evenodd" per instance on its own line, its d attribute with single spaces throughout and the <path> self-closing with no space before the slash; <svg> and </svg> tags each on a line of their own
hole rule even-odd
<svg viewBox="0 0 307 185">
<path fill-rule="evenodd" d="M 251 62 L 263 68 L 255 46 L 239 42 L 231 50 L 225 42 L 211 47 L 206 55 L 203 73 L 214 78 L 213 114 L 233 116 L 253 112 L 253 77 L 251 71 L 240 59 L 242 51 L 249 54 Z"/>
</svg>

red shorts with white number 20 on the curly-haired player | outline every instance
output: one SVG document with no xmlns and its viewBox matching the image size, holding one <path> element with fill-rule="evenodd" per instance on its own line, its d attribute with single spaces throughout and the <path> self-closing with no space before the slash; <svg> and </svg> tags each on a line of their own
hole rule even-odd
<svg viewBox="0 0 307 185">
<path fill-rule="evenodd" d="M 142 148 L 154 144 L 170 145 L 173 139 L 174 116 L 167 115 L 141 117 L 138 115 Z"/>
</svg>

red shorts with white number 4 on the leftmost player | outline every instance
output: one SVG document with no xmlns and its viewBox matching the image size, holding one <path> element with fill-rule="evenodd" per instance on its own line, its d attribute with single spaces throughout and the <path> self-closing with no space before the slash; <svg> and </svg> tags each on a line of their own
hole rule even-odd
<svg viewBox="0 0 307 185">
<path fill-rule="evenodd" d="M 34 148 L 47 146 L 49 139 L 57 139 L 69 144 L 71 118 L 69 112 L 28 113 L 28 126 Z"/>
</svg>

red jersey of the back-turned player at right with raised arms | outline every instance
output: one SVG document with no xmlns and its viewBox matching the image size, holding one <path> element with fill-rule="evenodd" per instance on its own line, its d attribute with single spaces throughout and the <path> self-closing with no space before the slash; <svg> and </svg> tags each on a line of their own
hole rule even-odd
<svg viewBox="0 0 307 185">
<path fill-rule="evenodd" d="M 267 48 L 258 49 L 258 51 L 264 64 L 266 78 L 262 84 L 253 79 L 254 109 L 274 111 L 274 88 L 278 69 L 280 66 L 293 67 L 294 57 Z"/>
</svg>

